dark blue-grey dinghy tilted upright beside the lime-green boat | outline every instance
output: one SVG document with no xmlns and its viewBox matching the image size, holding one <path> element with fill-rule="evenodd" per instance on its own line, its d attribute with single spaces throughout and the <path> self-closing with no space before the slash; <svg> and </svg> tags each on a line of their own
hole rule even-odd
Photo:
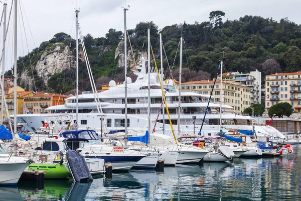
<svg viewBox="0 0 301 201">
<path fill-rule="evenodd" d="M 81 154 L 75 150 L 68 150 L 67 161 L 76 182 L 80 182 L 81 179 L 93 180 L 85 158 Z"/>
</svg>

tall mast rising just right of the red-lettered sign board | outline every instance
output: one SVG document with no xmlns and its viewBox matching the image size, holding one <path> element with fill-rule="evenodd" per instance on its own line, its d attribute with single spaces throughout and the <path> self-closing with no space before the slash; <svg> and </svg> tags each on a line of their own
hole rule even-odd
<svg viewBox="0 0 301 201">
<path fill-rule="evenodd" d="M 127 8 L 123 9 L 124 12 L 124 132 L 125 132 L 125 147 L 127 146 L 127 61 L 126 61 L 126 11 Z"/>
</svg>

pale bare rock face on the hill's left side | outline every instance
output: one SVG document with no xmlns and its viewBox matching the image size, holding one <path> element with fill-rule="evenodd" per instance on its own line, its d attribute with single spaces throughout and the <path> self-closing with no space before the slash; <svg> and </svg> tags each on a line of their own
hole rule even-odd
<svg viewBox="0 0 301 201">
<path fill-rule="evenodd" d="M 76 58 L 74 58 L 74 52 L 70 50 L 69 46 L 56 43 L 53 50 L 44 52 L 37 62 L 35 69 L 47 85 L 47 81 L 51 75 L 60 73 L 67 68 L 75 67 L 75 62 Z"/>
</svg>

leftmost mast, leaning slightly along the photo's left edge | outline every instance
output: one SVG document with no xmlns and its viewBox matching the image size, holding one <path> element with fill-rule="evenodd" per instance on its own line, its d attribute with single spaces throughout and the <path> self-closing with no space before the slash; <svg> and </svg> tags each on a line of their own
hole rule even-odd
<svg viewBox="0 0 301 201">
<path fill-rule="evenodd" d="M 4 3 L 4 23 L 3 23 L 3 51 L 2 51 L 2 98 L 1 98 L 1 124 L 4 121 L 4 72 L 5 72 L 5 41 L 6 41 L 6 13 L 7 4 Z M 8 114 L 7 114 L 8 115 Z"/>
</svg>

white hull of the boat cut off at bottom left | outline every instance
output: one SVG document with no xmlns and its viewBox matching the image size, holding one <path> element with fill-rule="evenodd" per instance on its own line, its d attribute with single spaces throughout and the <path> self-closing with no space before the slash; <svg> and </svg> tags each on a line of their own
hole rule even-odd
<svg viewBox="0 0 301 201">
<path fill-rule="evenodd" d="M 0 185 L 16 185 L 28 162 L 0 162 Z"/>
</svg>

